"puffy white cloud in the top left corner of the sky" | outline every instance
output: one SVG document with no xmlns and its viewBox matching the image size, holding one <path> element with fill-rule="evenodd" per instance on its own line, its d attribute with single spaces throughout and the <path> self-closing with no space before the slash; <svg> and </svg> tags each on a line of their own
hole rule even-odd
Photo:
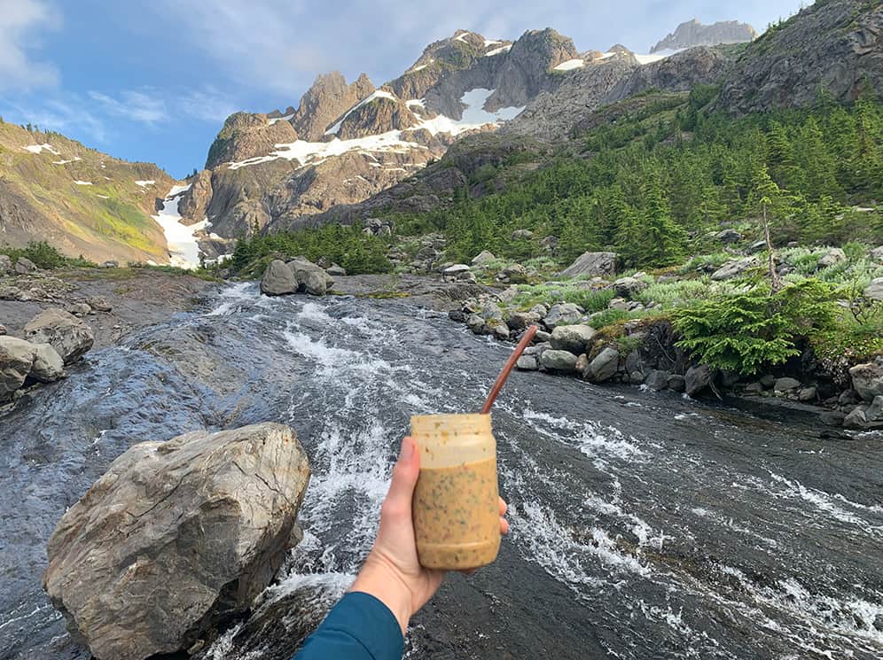
<svg viewBox="0 0 883 660">
<path fill-rule="evenodd" d="M 60 17 L 42 0 L 0 0 L 0 89 L 34 89 L 59 82 L 54 66 L 28 54 L 37 33 L 59 27 Z"/>
</svg>

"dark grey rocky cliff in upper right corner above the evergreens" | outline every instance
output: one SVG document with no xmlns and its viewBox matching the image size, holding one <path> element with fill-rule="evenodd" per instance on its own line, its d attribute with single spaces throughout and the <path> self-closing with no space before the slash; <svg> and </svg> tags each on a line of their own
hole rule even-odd
<svg viewBox="0 0 883 660">
<path fill-rule="evenodd" d="M 723 85 L 717 107 L 754 113 L 854 100 L 883 89 L 883 4 L 820 0 L 752 43 Z"/>
</svg>

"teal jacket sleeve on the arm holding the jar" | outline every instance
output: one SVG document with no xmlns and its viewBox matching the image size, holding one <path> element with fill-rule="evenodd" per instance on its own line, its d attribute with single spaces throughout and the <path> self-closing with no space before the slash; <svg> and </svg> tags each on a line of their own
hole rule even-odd
<svg viewBox="0 0 883 660">
<path fill-rule="evenodd" d="M 402 660 L 404 638 L 393 613 L 370 594 L 350 592 L 293 660 Z"/>
</svg>

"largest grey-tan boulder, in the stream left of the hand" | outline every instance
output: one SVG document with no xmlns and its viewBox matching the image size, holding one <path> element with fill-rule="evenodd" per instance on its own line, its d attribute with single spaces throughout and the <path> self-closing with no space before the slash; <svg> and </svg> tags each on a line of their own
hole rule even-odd
<svg viewBox="0 0 883 660">
<path fill-rule="evenodd" d="M 43 586 L 100 660 L 186 650 L 270 584 L 308 482 L 282 424 L 132 446 L 61 518 Z"/>
</svg>

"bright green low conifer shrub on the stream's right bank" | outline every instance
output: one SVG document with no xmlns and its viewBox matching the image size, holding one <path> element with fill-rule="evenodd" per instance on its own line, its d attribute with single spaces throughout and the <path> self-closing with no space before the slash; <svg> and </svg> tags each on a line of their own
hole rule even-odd
<svg viewBox="0 0 883 660">
<path fill-rule="evenodd" d="M 757 286 L 715 297 L 672 314 L 677 346 L 715 369 L 754 374 L 800 352 L 794 342 L 832 326 L 831 287 L 817 280 L 788 284 L 777 293 Z"/>
</svg>

